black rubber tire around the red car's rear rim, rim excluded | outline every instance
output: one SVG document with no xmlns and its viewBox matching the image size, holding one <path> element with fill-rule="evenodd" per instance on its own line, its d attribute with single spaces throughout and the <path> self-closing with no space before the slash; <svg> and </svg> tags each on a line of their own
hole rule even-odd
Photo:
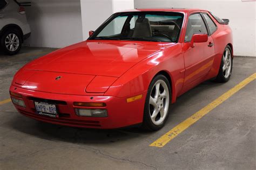
<svg viewBox="0 0 256 170">
<path fill-rule="evenodd" d="M 229 51 L 230 52 L 230 57 L 231 57 L 231 70 L 230 70 L 230 74 L 228 75 L 228 77 L 225 77 L 224 75 L 224 71 L 223 71 L 223 66 L 224 66 L 224 62 L 223 62 L 223 58 L 225 55 L 225 52 Z M 231 74 L 232 74 L 232 69 L 233 69 L 233 54 L 232 54 L 232 49 L 230 46 L 226 46 L 223 56 L 221 58 L 221 63 L 220 63 L 220 68 L 219 68 L 219 73 L 217 75 L 217 77 L 215 78 L 215 80 L 213 80 L 214 82 L 218 82 L 218 83 L 225 83 L 228 82 L 228 80 L 230 80 Z"/>
</svg>

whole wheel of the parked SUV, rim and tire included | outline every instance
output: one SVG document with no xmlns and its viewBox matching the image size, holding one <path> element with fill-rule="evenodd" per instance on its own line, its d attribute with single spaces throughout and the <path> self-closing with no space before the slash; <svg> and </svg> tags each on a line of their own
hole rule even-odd
<svg viewBox="0 0 256 170">
<path fill-rule="evenodd" d="M 6 30 L 1 37 L 1 47 L 8 55 L 17 54 L 22 47 L 22 33 L 17 29 Z"/>
</svg>

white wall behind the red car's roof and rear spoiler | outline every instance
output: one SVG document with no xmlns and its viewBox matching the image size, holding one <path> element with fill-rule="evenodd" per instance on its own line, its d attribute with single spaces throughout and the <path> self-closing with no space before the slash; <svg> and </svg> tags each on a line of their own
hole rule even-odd
<svg viewBox="0 0 256 170">
<path fill-rule="evenodd" d="M 256 2 L 241 0 L 134 0 L 135 8 L 200 8 L 230 19 L 234 54 L 256 56 Z"/>
</svg>

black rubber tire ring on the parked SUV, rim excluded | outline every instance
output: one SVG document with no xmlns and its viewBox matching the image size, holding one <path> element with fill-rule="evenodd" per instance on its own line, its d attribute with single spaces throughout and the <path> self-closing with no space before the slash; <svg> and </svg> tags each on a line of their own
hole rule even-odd
<svg viewBox="0 0 256 170">
<path fill-rule="evenodd" d="M 6 37 L 8 37 L 9 34 L 14 34 L 18 38 L 18 45 L 17 45 L 18 47 L 17 47 L 17 49 L 15 49 L 15 51 L 11 51 L 5 45 L 5 39 L 6 39 Z M 19 30 L 17 30 L 17 29 L 9 29 L 9 30 L 6 30 L 2 34 L 2 37 L 1 37 L 1 48 L 3 49 L 5 54 L 15 55 L 15 54 L 17 54 L 21 50 L 21 47 L 22 47 L 22 33 Z"/>
</svg>

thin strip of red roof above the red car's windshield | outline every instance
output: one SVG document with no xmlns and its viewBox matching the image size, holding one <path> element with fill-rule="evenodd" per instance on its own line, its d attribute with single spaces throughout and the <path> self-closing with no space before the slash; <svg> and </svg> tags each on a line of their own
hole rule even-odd
<svg viewBox="0 0 256 170">
<path fill-rule="evenodd" d="M 206 11 L 201 9 L 186 9 L 186 8 L 139 8 L 139 9 L 132 9 L 132 10 L 125 10 L 122 12 L 143 12 L 143 11 L 162 11 L 162 12 L 184 12 L 190 13 L 193 11 Z"/>
</svg>

